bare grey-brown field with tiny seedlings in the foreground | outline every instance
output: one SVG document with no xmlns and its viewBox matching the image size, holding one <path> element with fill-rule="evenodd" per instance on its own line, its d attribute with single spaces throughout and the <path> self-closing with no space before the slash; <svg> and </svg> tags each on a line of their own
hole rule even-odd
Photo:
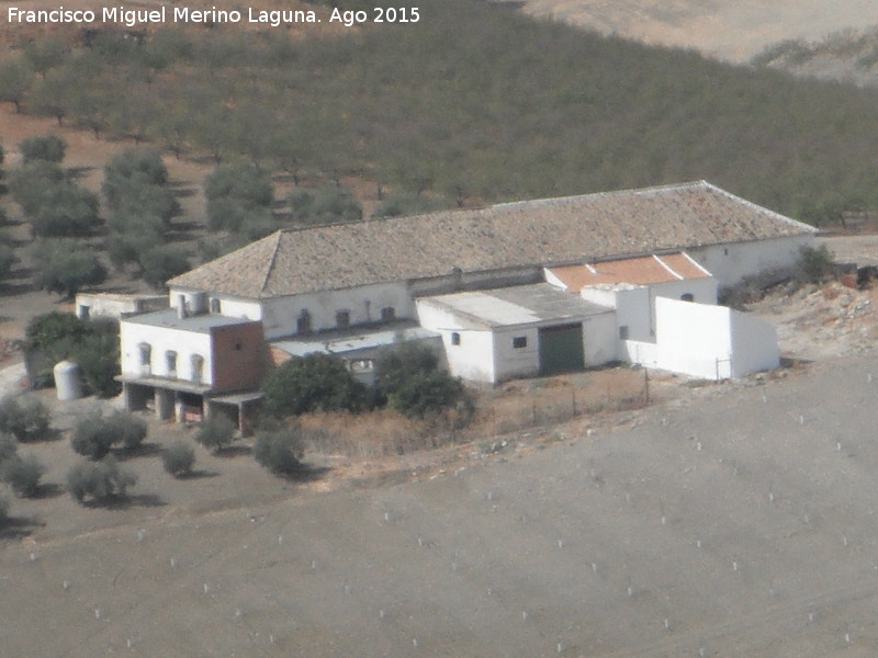
<svg viewBox="0 0 878 658">
<path fill-rule="evenodd" d="M 0 653 L 874 656 L 876 387 L 871 354 L 426 481 L 9 540 Z"/>
</svg>

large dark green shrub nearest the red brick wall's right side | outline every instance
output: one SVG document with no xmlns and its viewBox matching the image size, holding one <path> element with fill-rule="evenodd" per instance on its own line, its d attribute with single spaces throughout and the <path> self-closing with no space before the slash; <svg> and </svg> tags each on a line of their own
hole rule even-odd
<svg viewBox="0 0 878 658">
<path fill-rule="evenodd" d="M 294 356 L 269 373 L 262 392 L 266 411 L 279 417 L 306 411 L 359 411 L 367 401 L 365 386 L 333 354 Z"/>
</svg>

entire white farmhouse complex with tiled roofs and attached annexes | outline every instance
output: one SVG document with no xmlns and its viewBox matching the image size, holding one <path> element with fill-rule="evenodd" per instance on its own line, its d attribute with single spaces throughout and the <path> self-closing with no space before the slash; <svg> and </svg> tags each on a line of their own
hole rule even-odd
<svg viewBox="0 0 878 658">
<path fill-rule="evenodd" d="M 612 361 L 743 376 L 777 366 L 777 339 L 718 296 L 789 271 L 814 234 L 705 181 L 280 230 L 123 319 L 121 379 L 162 417 L 243 411 L 286 359 L 339 354 L 368 382 L 398 340 L 474 382 Z"/>
</svg>

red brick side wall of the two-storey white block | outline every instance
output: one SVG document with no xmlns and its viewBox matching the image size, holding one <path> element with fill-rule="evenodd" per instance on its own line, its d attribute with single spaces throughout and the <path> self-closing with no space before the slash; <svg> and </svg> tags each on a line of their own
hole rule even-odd
<svg viewBox="0 0 878 658">
<path fill-rule="evenodd" d="M 214 327 L 213 387 L 217 390 L 258 388 L 266 372 L 266 339 L 261 322 Z"/>
</svg>

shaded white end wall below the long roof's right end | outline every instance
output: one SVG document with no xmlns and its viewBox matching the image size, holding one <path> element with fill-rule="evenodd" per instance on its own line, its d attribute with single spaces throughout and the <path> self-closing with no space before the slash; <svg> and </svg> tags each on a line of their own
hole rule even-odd
<svg viewBox="0 0 878 658">
<path fill-rule="evenodd" d="M 742 280 L 778 270 L 795 268 L 799 248 L 813 246 L 813 235 L 687 248 L 686 252 L 710 272 L 720 288 Z"/>
</svg>

